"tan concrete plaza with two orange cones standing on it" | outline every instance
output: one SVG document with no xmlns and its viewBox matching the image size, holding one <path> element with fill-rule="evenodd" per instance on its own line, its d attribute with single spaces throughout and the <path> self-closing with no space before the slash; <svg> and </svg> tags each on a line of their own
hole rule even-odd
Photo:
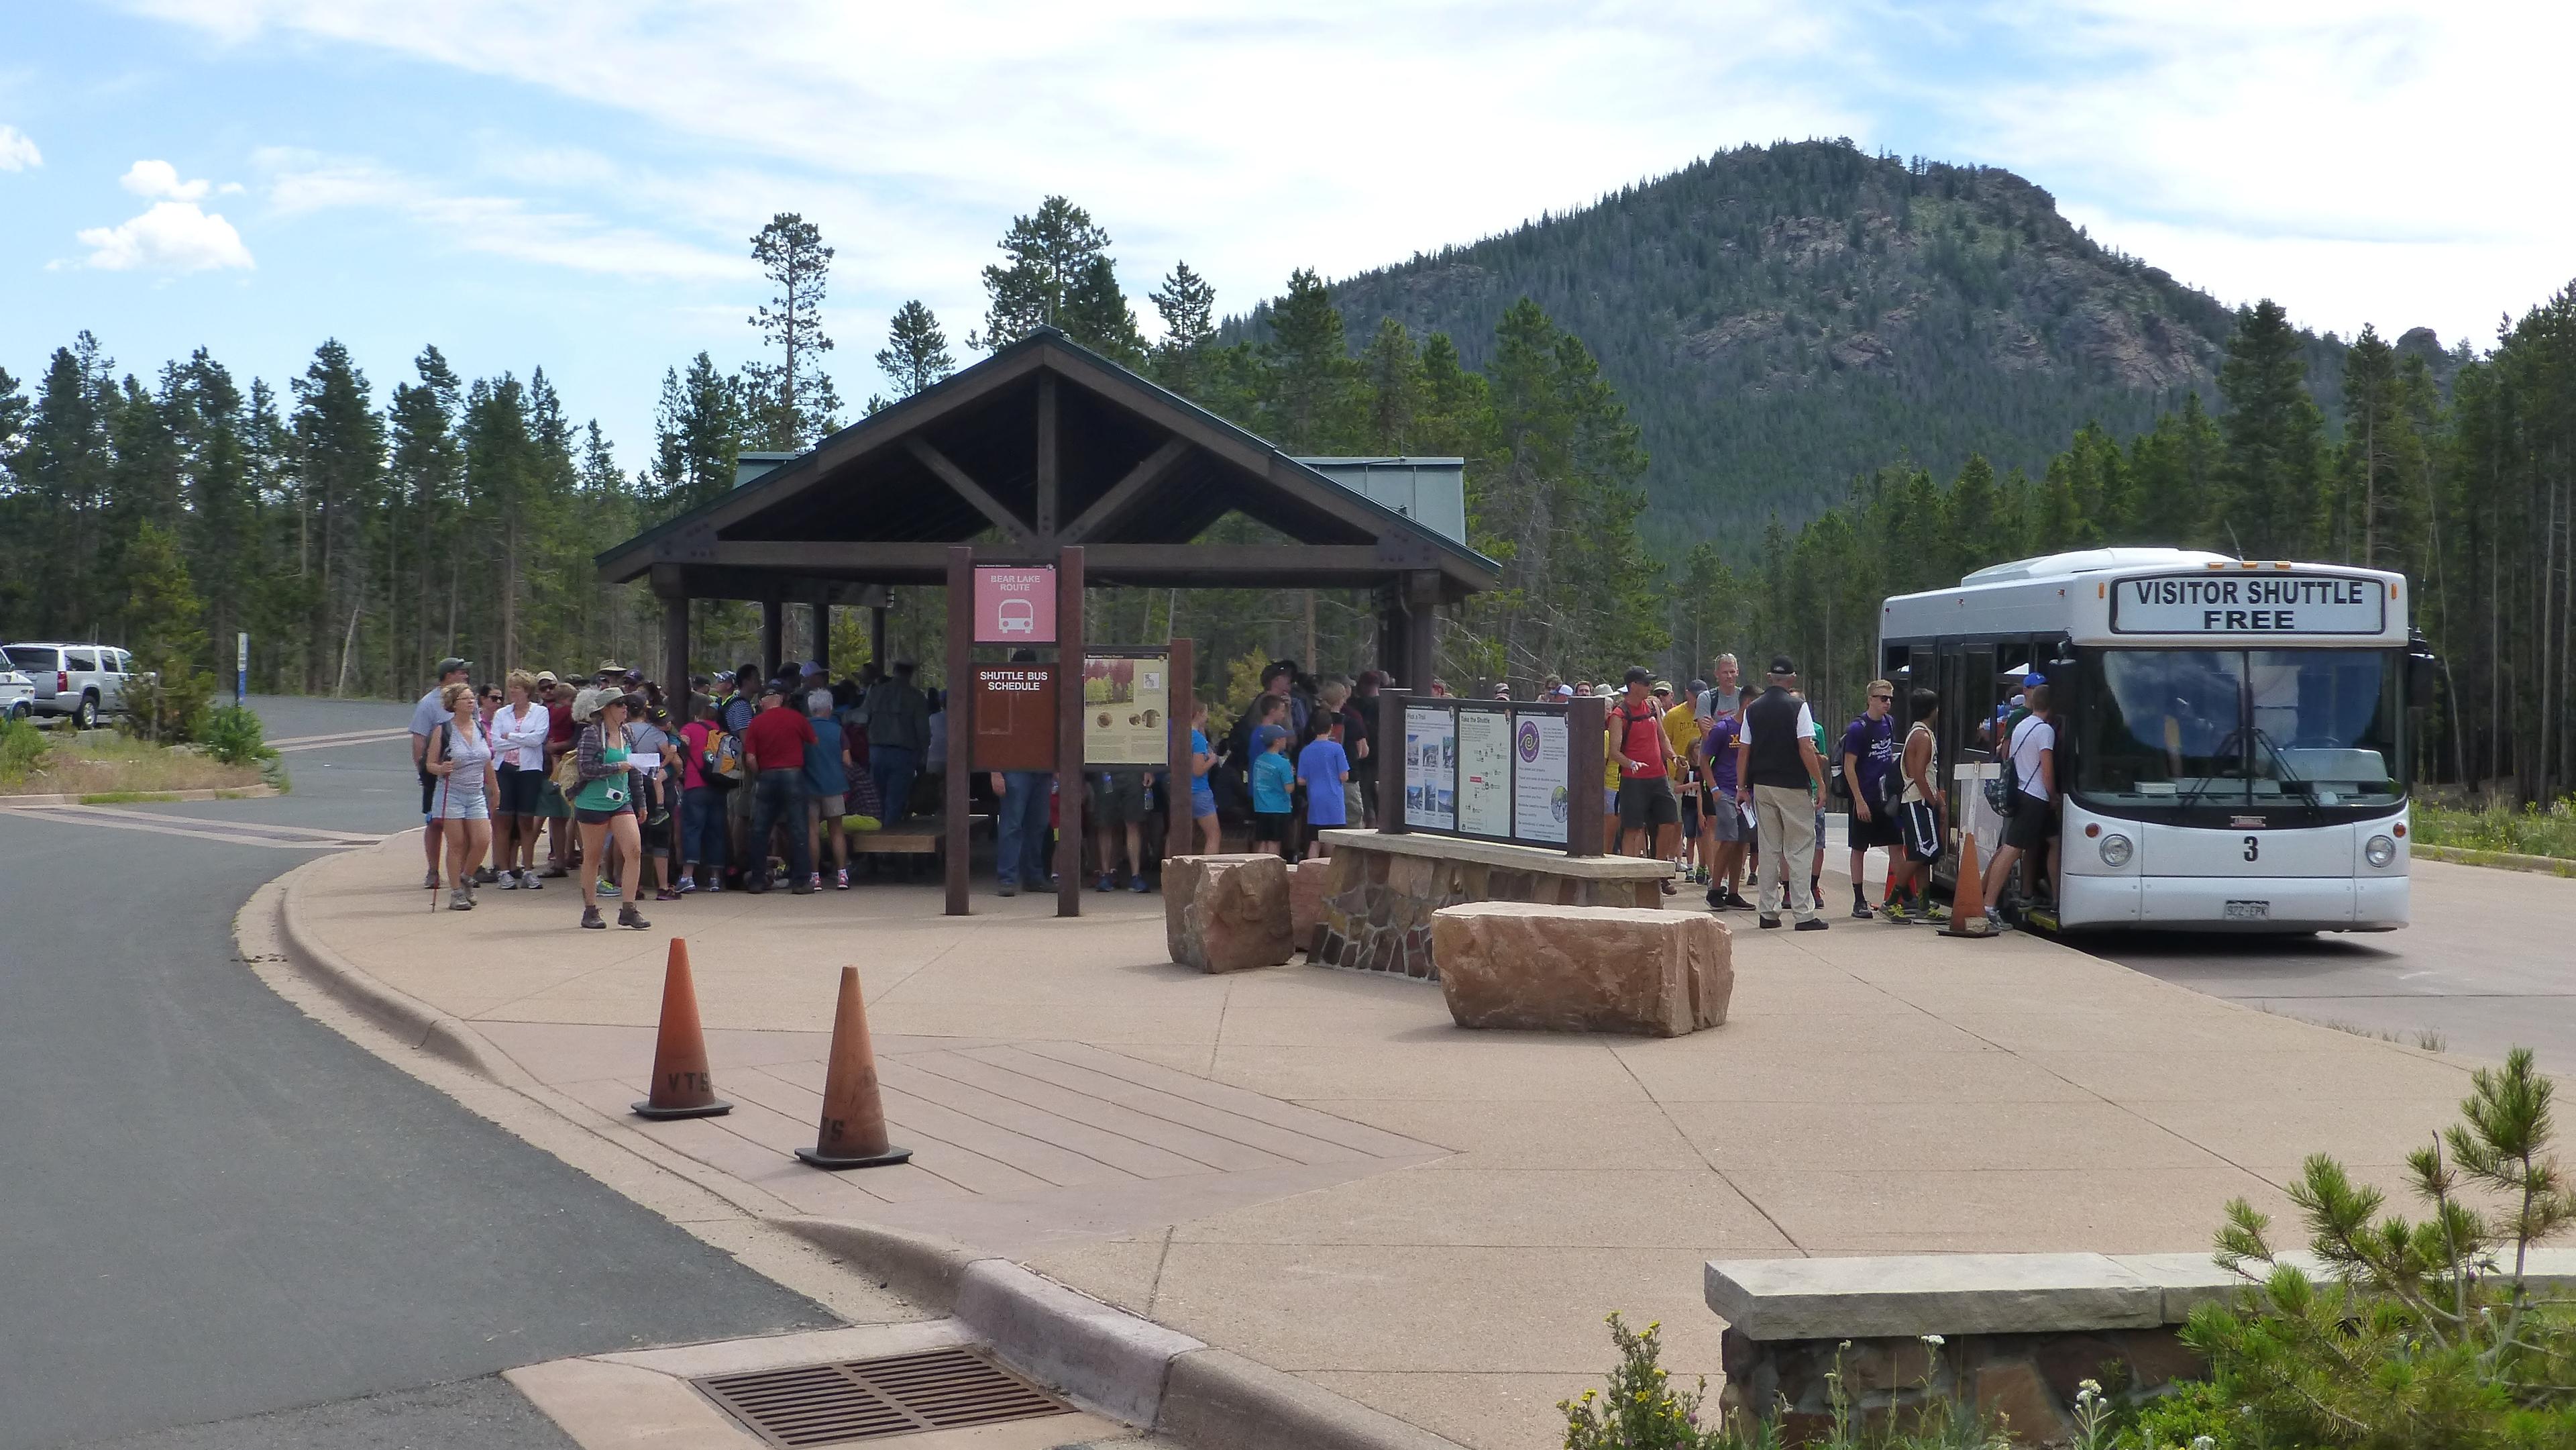
<svg viewBox="0 0 2576 1450">
<path fill-rule="evenodd" d="M 2465 1061 L 2215 1002 L 2035 937 L 1736 930 L 1731 1020 L 1677 1040 L 1463 1033 L 1437 986 L 1164 961 L 1159 896 L 933 886 L 430 912 L 417 842 L 314 865 L 304 927 L 528 1074 L 778 1213 L 933 1229 L 1479 1450 L 1558 1442 L 1607 1311 L 1718 1370 L 1700 1262 L 2200 1249 L 2308 1151 L 2396 1185 Z M 1829 896 L 1832 899 L 1832 896 Z M 729 1118 L 623 1118 L 685 935 Z M 822 1174 L 835 979 L 868 989 L 904 1169 Z"/>
</svg>

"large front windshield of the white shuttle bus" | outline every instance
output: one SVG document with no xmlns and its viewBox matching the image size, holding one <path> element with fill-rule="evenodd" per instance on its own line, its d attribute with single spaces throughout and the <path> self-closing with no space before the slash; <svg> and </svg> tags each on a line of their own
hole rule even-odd
<svg viewBox="0 0 2576 1450">
<path fill-rule="evenodd" d="M 2076 791 L 2123 806 L 2396 806 L 2393 649 L 2099 649 L 2076 703 Z"/>
</svg>

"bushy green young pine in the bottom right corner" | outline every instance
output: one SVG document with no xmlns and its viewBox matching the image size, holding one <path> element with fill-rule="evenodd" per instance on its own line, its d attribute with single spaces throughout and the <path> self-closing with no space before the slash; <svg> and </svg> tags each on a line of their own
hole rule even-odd
<svg viewBox="0 0 2576 1450">
<path fill-rule="evenodd" d="M 2269 1218 L 2228 1203 L 2218 1262 L 2249 1280 L 2182 1329 L 2251 1445 L 2576 1447 L 2576 1316 L 2532 1301 L 2532 1244 L 2576 1218 L 2550 1144 L 2555 1084 L 2514 1048 L 2460 1123 L 2406 1159 L 2424 1221 L 2313 1154 L 2290 1187 L 2329 1277 L 2280 1262 Z M 2483 1200 L 2473 1203 L 2473 1198 Z"/>
</svg>

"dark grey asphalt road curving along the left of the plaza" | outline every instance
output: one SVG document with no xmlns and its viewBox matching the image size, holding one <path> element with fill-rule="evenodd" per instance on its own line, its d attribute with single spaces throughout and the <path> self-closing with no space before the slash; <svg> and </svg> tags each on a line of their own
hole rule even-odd
<svg viewBox="0 0 2576 1450">
<path fill-rule="evenodd" d="M 407 721 L 255 706 L 270 737 Z M 832 1324 L 234 961 L 312 852 L 173 832 L 417 801 L 399 739 L 286 760 L 283 798 L 0 816 L 0 1450 L 567 1447 L 497 1370 Z"/>
</svg>

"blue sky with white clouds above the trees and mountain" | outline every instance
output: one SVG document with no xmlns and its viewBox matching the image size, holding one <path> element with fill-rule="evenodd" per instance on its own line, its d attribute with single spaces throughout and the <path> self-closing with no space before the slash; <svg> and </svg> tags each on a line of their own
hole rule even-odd
<svg viewBox="0 0 2576 1450">
<path fill-rule="evenodd" d="M 2486 340 L 2576 276 L 2568 5 L 129 0 L 0 5 L 0 368 L 75 330 L 379 389 L 544 366 L 644 458 L 665 366 L 737 366 L 747 237 L 817 219 L 845 399 L 909 296 L 951 340 L 1061 191 L 1144 294 L 1226 309 L 1579 206 L 1718 147 L 1986 162 L 2311 327 Z M 963 355 L 963 345 L 958 345 Z"/>
</svg>

